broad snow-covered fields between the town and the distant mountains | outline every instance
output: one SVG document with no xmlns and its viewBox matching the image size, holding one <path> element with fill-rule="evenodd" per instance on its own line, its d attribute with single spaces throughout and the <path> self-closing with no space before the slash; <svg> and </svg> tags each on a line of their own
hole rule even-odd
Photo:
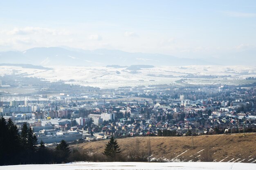
<svg viewBox="0 0 256 170">
<path fill-rule="evenodd" d="M 47 67 L 47 66 L 46 66 Z M 51 66 L 52 70 L 0 66 L 0 76 L 20 74 L 21 76 L 45 78 L 48 81 L 63 80 L 69 84 L 111 88 L 140 85 L 175 84 L 187 76 L 228 76 L 227 78 L 188 78 L 184 83 L 216 84 L 224 81 L 239 83 L 246 77 L 256 77 L 256 66 L 189 65 L 143 68 L 137 71 L 126 68 Z M 207 80 L 207 81 L 204 81 Z M 209 81 L 211 80 L 211 81 Z"/>
</svg>

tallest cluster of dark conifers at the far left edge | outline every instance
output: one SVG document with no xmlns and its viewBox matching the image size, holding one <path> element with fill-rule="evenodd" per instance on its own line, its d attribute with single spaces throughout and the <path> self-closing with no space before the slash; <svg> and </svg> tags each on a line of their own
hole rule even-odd
<svg viewBox="0 0 256 170">
<path fill-rule="evenodd" d="M 0 165 L 30 163 L 36 151 L 37 138 L 32 129 L 23 124 L 21 133 L 11 119 L 0 118 Z"/>
</svg>

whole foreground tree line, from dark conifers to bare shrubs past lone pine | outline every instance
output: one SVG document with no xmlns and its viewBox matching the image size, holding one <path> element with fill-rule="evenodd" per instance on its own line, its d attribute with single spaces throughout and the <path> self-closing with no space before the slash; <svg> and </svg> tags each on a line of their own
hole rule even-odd
<svg viewBox="0 0 256 170">
<path fill-rule="evenodd" d="M 148 161 L 151 155 L 150 140 L 147 150 L 139 149 L 137 140 L 128 153 L 121 153 L 121 148 L 114 137 L 106 144 L 103 153 L 90 154 L 70 149 L 69 144 L 62 140 L 56 147 L 46 147 L 38 139 L 32 129 L 25 122 L 19 132 L 11 119 L 0 118 L 0 166 L 18 164 L 51 164 L 73 161 Z M 133 152 L 135 151 L 136 152 Z"/>
</svg>

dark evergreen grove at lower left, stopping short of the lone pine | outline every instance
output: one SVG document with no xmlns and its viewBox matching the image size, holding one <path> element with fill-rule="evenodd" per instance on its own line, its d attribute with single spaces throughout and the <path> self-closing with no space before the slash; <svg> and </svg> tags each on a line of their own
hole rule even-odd
<svg viewBox="0 0 256 170">
<path fill-rule="evenodd" d="M 38 145 L 36 135 L 31 127 L 24 123 L 19 133 L 18 127 L 11 119 L 7 122 L 0 118 L 0 166 L 31 163 L 62 163 L 82 161 L 85 155 L 70 151 L 69 145 L 62 140 L 56 148 L 46 148 L 41 141 Z"/>
</svg>

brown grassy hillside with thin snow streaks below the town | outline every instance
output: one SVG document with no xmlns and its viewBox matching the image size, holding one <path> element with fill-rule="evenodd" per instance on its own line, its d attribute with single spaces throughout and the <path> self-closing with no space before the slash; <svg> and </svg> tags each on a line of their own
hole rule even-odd
<svg viewBox="0 0 256 170">
<path fill-rule="evenodd" d="M 117 142 L 121 153 L 127 154 L 138 149 L 146 152 L 148 139 L 151 143 L 151 159 L 157 161 L 203 161 L 203 157 L 210 153 L 212 160 L 217 162 L 256 162 L 256 133 L 195 136 L 193 141 L 192 137 L 133 137 L 117 139 Z M 108 141 L 70 147 L 78 147 L 82 152 L 103 153 Z"/>
</svg>

